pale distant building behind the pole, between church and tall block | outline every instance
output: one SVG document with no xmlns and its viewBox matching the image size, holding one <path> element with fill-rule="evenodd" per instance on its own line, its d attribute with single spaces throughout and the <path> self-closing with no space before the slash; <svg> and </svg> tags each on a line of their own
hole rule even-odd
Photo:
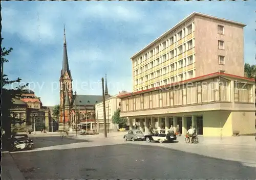
<svg viewBox="0 0 256 180">
<path fill-rule="evenodd" d="M 112 116 L 114 116 L 116 110 L 120 106 L 120 99 L 117 96 L 127 94 L 127 92 L 119 92 L 119 94 L 110 96 L 105 99 L 105 112 L 106 112 L 106 127 L 109 130 L 117 130 L 118 124 L 112 122 Z M 99 102 L 95 105 L 96 119 L 98 123 L 98 130 L 104 130 L 104 116 L 103 116 L 103 102 Z"/>
</svg>

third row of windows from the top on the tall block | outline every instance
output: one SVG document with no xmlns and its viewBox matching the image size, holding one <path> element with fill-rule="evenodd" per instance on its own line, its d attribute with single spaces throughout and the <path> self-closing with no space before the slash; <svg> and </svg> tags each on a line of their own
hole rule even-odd
<svg viewBox="0 0 256 180">
<path fill-rule="evenodd" d="M 164 75 L 166 73 L 169 73 L 169 72 L 173 72 L 177 69 L 180 69 L 180 68 L 183 68 L 185 66 L 188 66 L 190 64 L 193 64 L 193 56 L 194 55 L 191 55 L 187 58 L 184 58 L 182 60 L 179 60 L 178 62 L 175 62 L 175 63 L 172 63 L 172 64 L 169 64 L 155 72 L 151 72 L 150 74 L 147 74 L 145 75 L 144 77 L 141 77 L 140 79 L 137 79 L 135 80 L 135 84 L 138 85 L 140 84 L 139 81 L 141 82 L 145 82 L 145 81 L 148 81 L 148 80 L 152 80 L 154 78 L 158 78 L 159 76 L 161 75 Z"/>
</svg>

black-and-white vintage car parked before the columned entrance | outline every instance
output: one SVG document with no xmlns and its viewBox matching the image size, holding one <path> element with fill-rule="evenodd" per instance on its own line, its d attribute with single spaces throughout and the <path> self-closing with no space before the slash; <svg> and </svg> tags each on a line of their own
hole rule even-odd
<svg viewBox="0 0 256 180">
<path fill-rule="evenodd" d="M 177 136 L 174 130 L 153 130 L 152 133 L 145 135 L 146 142 L 157 141 L 163 143 L 164 141 L 174 142 Z"/>
</svg>

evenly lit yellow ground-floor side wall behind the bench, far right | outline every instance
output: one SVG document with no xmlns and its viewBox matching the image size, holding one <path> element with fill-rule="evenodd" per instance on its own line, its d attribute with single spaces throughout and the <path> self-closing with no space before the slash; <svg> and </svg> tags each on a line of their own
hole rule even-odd
<svg viewBox="0 0 256 180">
<path fill-rule="evenodd" d="M 233 131 L 240 135 L 255 134 L 255 112 L 232 112 Z"/>
</svg>

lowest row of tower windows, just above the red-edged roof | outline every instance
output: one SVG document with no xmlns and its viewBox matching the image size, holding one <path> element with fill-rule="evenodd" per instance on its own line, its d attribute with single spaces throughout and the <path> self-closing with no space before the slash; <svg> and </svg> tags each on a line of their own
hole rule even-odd
<svg viewBox="0 0 256 180">
<path fill-rule="evenodd" d="M 181 73 L 179 75 L 172 76 L 171 78 L 161 80 L 159 82 L 156 82 L 156 83 L 153 83 L 151 85 L 145 86 L 144 88 L 143 87 L 138 88 L 135 91 L 142 91 L 142 90 L 145 90 L 145 89 L 151 89 L 151 88 L 155 88 L 155 87 L 159 87 L 159 86 L 164 86 L 164 85 L 184 81 L 184 80 L 191 79 L 191 78 L 194 78 L 194 70 L 190 70 L 190 71 Z M 142 84 L 142 83 L 143 82 L 140 82 L 140 84 Z"/>
</svg>

